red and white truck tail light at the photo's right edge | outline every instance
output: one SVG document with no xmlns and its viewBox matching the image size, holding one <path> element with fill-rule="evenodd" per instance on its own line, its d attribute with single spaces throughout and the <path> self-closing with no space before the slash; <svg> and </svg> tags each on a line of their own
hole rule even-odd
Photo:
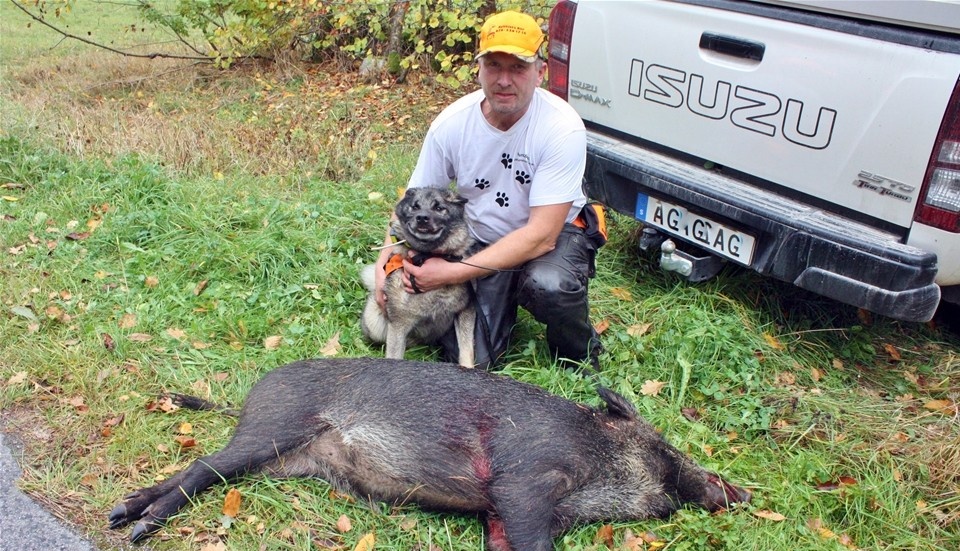
<svg viewBox="0 0 960 551">
<path fill-rule="evenodd" d="M 960 81 L 947 104 L 920 197 L 917 222 L 960 233 Z"/>
</svg>

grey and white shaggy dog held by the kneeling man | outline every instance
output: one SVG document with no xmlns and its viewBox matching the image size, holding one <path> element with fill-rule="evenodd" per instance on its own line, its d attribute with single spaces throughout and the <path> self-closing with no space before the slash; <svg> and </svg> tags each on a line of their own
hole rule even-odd
<svg viewBox="0 0 960 551">
<path fill-rule="evenodd" d="M 467 229 L 466 203 L 466 199 L 451 190 L 408 189 L 397 203 L 397 219 L 391 224 L 391 231 L 398 239 L 394 255 L 402 258 L 412 250 L 416 253 L 413 262 L 419 264 L 430 256 L 460 260 L 479 250 L 480 244 Z M 374 296 L 375 267 L 368 265 L 361 271 L 361 280 L 370 291 L 360 319 L 364 336 L 373 342 L 386 343 L 386 357 L 401 360 L 408 338 L 429 343 L 454 327 L 460 348 L 458 361 L 460 365 L 473 367 L 476 311 L 470 288 L 461 284 L 425 293 L 408 293 L 403 288 L 399 258 L 395 256 L 387 263 L 387 279 L 383 285 L 386 312 Z M 416 280 L 413 284 L 416 289 Z"/>
</svg>

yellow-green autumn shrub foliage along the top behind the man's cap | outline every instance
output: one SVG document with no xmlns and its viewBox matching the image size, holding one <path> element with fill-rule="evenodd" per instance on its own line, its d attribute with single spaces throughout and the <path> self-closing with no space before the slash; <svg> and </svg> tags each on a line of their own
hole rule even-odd
<svg viewBox="0 0 960 551">
<path fill-rule="evenodd" d="M 177 0 L 134 2 L 140 16 L 177 38 L 180 51 L 220 67 L 251 57 L 339 59 L 403 79 L 428 68 L 448 84 L 472 79 L 476 37 L 486 16 L 519 9 L 545 20 L 548 0 Z M 58 20 L 84 9 L 77 0 L 37 0 Z M 52 16 L 52 17 L 51 17 Z M 135 24 L 136 22 L 131 22 Z"/>
</svg>

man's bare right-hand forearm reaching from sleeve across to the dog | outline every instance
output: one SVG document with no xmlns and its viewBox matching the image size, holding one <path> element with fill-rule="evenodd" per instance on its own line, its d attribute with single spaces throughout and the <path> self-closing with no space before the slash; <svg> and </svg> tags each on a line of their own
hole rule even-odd
<svg viewBox="0 0 960 551">
<path fill-rule="evenodd" d="M 422 266 L 415 266 L 404 261 L 403 279 L 407 291 L 413 292 L 410 285 L 411 275 L 419 290 L 432 291 L 444 285 L 483 277 L 493 271 L 509 270 L 552 251 L 572 204 L 570 202 L 531 207 L 526 225 L 501 237 L 496 243 L 470 258 L 463 259 L 463 262 L 431 258 Z"/>
</svg>

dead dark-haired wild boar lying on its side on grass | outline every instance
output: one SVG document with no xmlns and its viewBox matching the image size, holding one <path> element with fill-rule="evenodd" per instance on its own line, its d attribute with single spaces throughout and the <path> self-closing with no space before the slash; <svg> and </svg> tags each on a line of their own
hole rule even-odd
<svg viewBox="0 0 960 551">
<path fill-rule="evenodd" d="M 110 527 L 138 541 L 198 492 L 263 472 L 477 514 L 491 551 L 547 551 L 575 523 L 711 511 L 750 493 L 668 444 L 619 394 L 605 408 L 454 364 L 306 360 L 250 390 L 233 438 L 179 474 L 127 495 Z"/>
</svg>

